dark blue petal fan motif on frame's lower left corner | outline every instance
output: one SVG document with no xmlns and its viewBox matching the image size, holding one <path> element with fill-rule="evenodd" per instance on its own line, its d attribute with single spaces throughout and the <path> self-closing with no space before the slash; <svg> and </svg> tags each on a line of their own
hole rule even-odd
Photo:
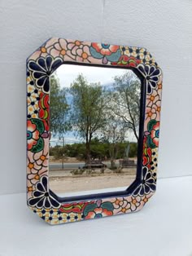
<svg viewBox="0 0 192 256">
<path fill-rule="evenodd" d="M 42 207 L 50 209 L 59 208 L 60 204 L 56 201 L 47 190 L 47 178 L 42 176 L 41 180 L 36 183 L 36 190 L 33 192 L 33 197 L 29 198 L 28 205 L 35 206 L 38 209 Z"/>
</svg>

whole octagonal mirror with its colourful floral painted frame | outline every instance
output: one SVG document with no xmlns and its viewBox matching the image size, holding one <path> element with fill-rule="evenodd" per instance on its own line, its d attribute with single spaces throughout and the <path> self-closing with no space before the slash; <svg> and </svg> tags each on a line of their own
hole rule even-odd
<svg viewBox="0 0 192 256">
<path fill-rule="evenodd" d="M 27 60 L 27 202 L 59 224 L 141 210 L 156 188 L 162 71 L 141 47 L 51 38 Z"/>
</svg>

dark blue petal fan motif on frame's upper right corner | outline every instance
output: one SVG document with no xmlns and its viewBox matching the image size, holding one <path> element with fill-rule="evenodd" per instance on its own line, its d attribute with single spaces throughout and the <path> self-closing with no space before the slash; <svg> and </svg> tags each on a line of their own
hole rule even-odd
<svg viewBox="0 0 192 256">
<path fill-rule="evenodd" d="M 151 94 L 152 90 L 156 88 L 157 82 L 159 82 L 161 75 L 160 68 L 156 68 L 154 65 L 150 66 L 149 64 L 139 64 L 137 68 L 142 73 L 143 77 L 146 78 L 146 90 L 148 94 Z"/>
</svg>

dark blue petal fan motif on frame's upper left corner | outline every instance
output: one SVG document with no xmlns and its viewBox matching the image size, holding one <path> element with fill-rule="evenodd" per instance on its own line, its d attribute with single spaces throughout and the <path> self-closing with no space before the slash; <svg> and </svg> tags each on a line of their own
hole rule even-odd
<svg viewBox="0 0 192 256">
<path fill-rule="evenodd" d="M 45 93 L 50 90 L 50 74 L 56 68 L 63 64 L 63 60 L 59 57 L 53 58 L 47 55 L 46 58 L 39 57 L 37 60 L 28 61 L 28 70 L 32 72 L 32 77 L 36 81 L 36 86 L 41 88 Z"/>
</svg>

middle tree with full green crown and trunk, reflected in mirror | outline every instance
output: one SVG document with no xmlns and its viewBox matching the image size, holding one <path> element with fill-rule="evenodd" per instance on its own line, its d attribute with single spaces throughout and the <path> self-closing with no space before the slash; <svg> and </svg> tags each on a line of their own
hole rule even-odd
<svg viewBox="0 0 192 256">
<path fill-rule="evenodd" d="M 85 139 L 86 159 L 90 159 L 90 143 L 96 131 L 105 126 L 105 92 L 97 83 L 89 84 L 79 75 L 70 88 L 72 109 L 70 121 L 73 130 Z"/>
</svg>

